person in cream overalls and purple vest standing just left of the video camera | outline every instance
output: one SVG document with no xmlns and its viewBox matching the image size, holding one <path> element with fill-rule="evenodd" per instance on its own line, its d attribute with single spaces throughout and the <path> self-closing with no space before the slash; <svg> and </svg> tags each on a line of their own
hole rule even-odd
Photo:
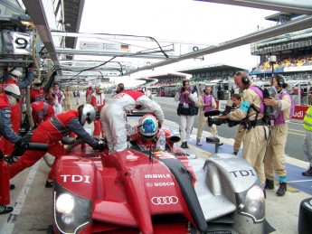
<svg viewBox="0 0 312 234">
<path fill-rule="evenodd" d="M 204 112 L 211 111 L 217 107 L 215 100 L 213 98 L 212 87 L 206 86 L 203 89 L 203 94 L 199 96 L 196 101 L 195 106 L 199 108 L 199 119 L 198 119 L 198 129 L 196 136 L 196 145 L 202 145 L 201 138 L 203 134 L 203 126 L 207 123 L 208 117 L 204 117 Z M 218 136 L 217 126 L 210 126 L 210 131 L 213 136 Z M 223 143 L 219 143 L 219 146 Z"/>
</svg>

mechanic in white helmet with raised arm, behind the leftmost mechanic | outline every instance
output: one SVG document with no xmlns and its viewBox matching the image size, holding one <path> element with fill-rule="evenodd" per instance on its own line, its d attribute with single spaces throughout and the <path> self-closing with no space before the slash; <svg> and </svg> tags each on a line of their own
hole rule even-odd
<svg viewBox="0 0 312 234">
<path fill-rule="evenodd" d="M 7 76 L 8 75 L 8 76 Z M 5 79 L 8 77 L 8 79 Z M 33 81 L 33 63 L 29 64 L 28 72 L 25 80 L 20 80 L 22 77 L 22 72 L 19 70 L 13 70 L 8 74 L 4 74 L 4 82 L 2 83 L 2 90 L 8 84 L 15 84 L 19 89 L 25 89 Z M 21 125 L 21 106 L 22 101 L 20 100 L 13 108 L 11 108 L 11 122 L 15 133 L 19 132 Z M 13 144 L 8 140 L 1 141 L 0 148 L 5 155 L 11 155 L 13 152 Z"/>
</svg>

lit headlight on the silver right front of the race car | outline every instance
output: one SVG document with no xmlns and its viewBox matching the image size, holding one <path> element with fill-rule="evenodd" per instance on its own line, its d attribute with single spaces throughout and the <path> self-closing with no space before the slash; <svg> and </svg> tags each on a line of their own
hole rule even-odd
<svg viewBox="0 0 312 234">
<path fill-rule="evenodd" d="M 265 218 L 264 193 L 259 185 L 253 185 L 246 192 L 238 194 L 238 208 L 241 214 L 250 216 L 254 222 Z"/>
</svg>

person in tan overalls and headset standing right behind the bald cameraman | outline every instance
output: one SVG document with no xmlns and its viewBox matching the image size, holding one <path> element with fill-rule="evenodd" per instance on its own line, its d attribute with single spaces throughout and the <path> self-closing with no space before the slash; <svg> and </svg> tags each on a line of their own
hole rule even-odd
<svg viewBox="0 0 312 234">
<path fill-rule="evenodd" d="M 264 172 L 266 177 L 265 189 L 274 189 L 274 172 L 279 175 L 278 196 L 287 192 L 285 146 L 288 136 L 288 120 L 291 108 L 291 99 L 285 90 L 288 84 L 278 74 L 273 74 L 272 86 L 277 89 L 279 99 L 264 98 L 264 104 L 277 108 L 276 117 L 273 117 L 274 125 L 271 126 L 269 146 L 264 159 Z"/>
</svg>

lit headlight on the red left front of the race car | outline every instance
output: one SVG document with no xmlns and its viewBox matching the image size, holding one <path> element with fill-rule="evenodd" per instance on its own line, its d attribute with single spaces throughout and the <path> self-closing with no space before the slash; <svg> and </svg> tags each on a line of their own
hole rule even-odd
<svg viewBox="0 0 312 234">
<path fill-rule="evenodd" d="M 91 201 L 80 198 L 54 182 L 54 222 L 63 233 L 77 233 L 90 224 Z"/>
</svg>

